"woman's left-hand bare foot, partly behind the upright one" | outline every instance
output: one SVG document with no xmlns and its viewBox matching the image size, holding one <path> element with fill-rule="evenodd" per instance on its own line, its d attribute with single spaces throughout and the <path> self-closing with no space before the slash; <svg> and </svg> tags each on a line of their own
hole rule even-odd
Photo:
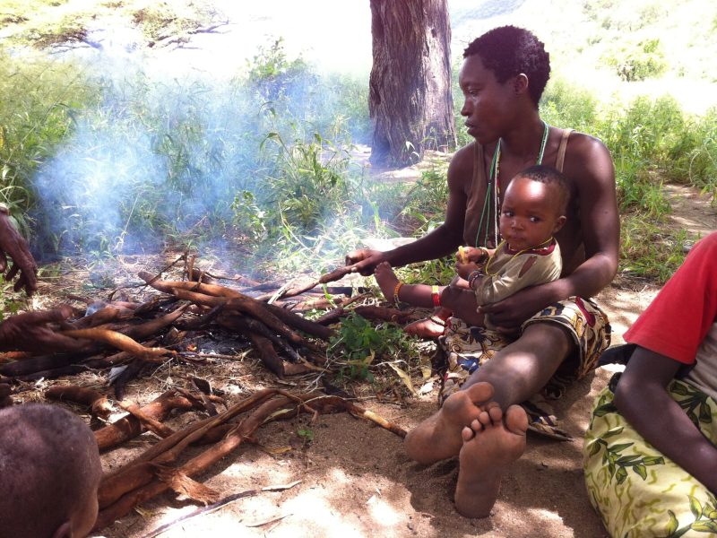
<svg viewBox="0 0 717 538">
<path fill-rule="evenodd" d="M 409 431 L 408 456 L 419 464 L 456 456 L 463 446 L 463 428 L 479 420 L 494 392 L 492 385 L 481 382 L 448 396 L 438 412 Z"/>
</svg>

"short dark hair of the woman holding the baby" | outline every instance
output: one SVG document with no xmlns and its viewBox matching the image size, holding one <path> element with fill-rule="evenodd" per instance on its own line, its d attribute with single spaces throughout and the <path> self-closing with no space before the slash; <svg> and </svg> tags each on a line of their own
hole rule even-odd
<svg viewBox="0 0 717 538">
<path fill-rule="evenodd" d="M 538 106 L 550 78 L 550 55 L 531 31 L 514 26 L 489 30 L 473 39 L 463 51 L 464 58 L 473 55 L 480 56 L 486 69 L 496 75 L 497 82 L 525 74 L 531 100 Z"/>
</svg>

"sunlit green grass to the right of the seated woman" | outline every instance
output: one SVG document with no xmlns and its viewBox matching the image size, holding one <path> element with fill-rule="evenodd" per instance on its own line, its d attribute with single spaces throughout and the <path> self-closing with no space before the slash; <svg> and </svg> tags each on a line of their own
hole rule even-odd
<svg viewBox="0 0 717 538">
<path fill-rule="evenodd" d="M 615 162 L 622 219 L 620 266 L 664 282 L 696 238 L 664 226 L 670 212 L 663 185 L 672 181 L 717 196 L 717 110 L 687 114 L 677 100 L 639 97 L 625 106 L 592 100 L 580 88 L 553 82 L 541 103 L 544 117 L 599 137 Z"/>
</svg>

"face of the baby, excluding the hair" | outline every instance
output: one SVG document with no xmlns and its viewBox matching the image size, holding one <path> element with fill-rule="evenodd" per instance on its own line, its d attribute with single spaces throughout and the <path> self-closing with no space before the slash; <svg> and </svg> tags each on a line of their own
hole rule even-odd
<svg viewBox="0 0 717 538">
<path fill-rule="evenodd" d="M 517 177 L 505 189 L 500 212 L 500 235 L 513 250 L 538 247 L 565 222 L 557 208 L 555 188 Z"/>
</svg>

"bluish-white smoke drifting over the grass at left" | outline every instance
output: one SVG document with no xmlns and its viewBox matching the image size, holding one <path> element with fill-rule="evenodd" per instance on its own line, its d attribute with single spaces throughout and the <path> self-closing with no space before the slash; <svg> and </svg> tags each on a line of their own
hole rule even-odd
<svg viewBox="0 0 717 538">
<path fill-rule="evenodd" d="M 278 203 L 268 188 L 288 145 L 314 132 L 345 142 L 335 86 L 281 40 L 259 48 L 248 78 L 177 76 L 145 59 L 120 43 L 68 60 L 83 62 L 96 99 L 69 108 L 72 132 L 34 178 L 41 259 L 229 247 L 247 193 Z"/>
</svg>

